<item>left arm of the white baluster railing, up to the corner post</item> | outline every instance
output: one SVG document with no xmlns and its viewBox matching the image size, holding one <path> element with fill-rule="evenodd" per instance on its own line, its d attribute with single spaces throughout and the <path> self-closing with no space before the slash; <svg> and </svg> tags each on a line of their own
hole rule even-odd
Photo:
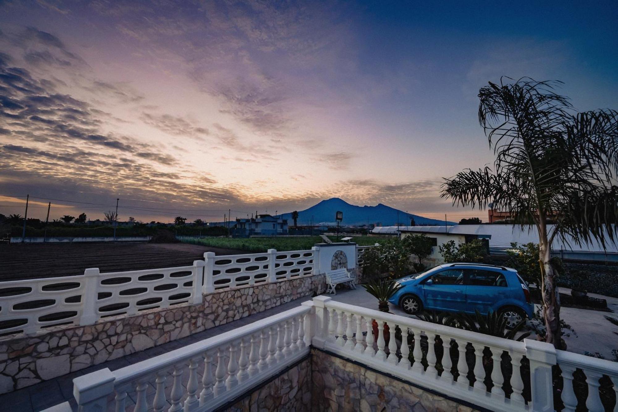
<svg viewBox="0 0 618 412">
<path fill-rule="evenodd" d="M 125 412 L 129 392 L 139 412 L 214 410 L 308 355 L 309 347 L 298 345 L 298 329 L 310 311 L 311 307 L 299 306 L 114 372 L 103 369 L 78 377 L 74 379 L 78 408 L 80 412 Z M 265 333 L 268 329 L 274 333 Z M 265 350 L 271 343 L 276 343 L 270 346 L 273 363 L 266 366 L 265 362 L 260 369 L 258 364 L 266 361 Z M 172 380 L 169 398 L 168 380 Z M 148 390 L 148 382 L 155 386 L 154 393 Z"/>
</svg>

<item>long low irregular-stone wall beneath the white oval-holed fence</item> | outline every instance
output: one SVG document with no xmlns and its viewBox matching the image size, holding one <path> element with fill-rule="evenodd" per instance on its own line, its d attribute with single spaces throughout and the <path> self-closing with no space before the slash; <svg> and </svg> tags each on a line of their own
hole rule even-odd
<svg viewBox="0 0 618 412">
<path fill-rule="evenodd" d="M 303 296 L 323 293 L 324 276 L 232 288 L 204 296 L 204 303 L 150 309 L 137 316 L 65 325 L 35 335 L 0 338 L 0 393 L 202 332 Z"/>
</svg>

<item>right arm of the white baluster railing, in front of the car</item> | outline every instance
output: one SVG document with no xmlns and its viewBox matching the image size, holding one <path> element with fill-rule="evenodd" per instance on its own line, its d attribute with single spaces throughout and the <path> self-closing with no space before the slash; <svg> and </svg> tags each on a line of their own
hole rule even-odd
<svg viewBox="0 0 618 412">
<path fill-rule="evenodd" d="M 554 410 L 555 365 L 561 367 L 565 378 L 565 411 L 574 411 L 577 406 L 572 390 L 575 369 L 581 369 L 586 376 L 585 405 L 590 411 L 605 410 L 599 396 L 602 376 L 609 377 L 613 390 L 618 390 L 618 363 L 556 351 L 554 346 L 540 341 L 491 337 L 339 303 L 324 296 L 313 302 L 314 346 L 489 410 Z M 523 363 L 529 367 L 522 367 Z M 529 382 L 527 391 L 524 382 Z M 525 397 L 524 392 L 530 395 Z M 614 405 L 616 410 L 618 405 Z"/>
</svg>

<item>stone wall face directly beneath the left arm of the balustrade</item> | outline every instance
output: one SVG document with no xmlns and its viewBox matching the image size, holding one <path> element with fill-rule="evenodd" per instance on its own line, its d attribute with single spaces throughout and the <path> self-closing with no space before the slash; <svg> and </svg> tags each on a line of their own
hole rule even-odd
<svg viewBox="0 0 618 412">
<path fill-rule="evenodd" d="M 311 407 L 311 359 L 307 358 L 221 411 L 309 412 Z"/>
</svg>

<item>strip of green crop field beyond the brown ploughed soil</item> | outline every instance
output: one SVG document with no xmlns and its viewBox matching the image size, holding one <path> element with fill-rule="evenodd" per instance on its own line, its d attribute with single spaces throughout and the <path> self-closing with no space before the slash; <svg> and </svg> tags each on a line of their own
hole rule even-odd
<svg viewBox="0 0 618 412">
<path fill-rule="evenodd" d="M 329 238 L 336 241 L 334 236 L 329 236 Z M 384 238 L 368 238 L 366 236 L 354 238 L 359 246 L 373 245 L 383 240 Z M 183 242 L 247 252 L 266 252 L 268 249 L 277 249 L 277 251 L 283 252 L 311 249 L 316 243 L 322 243 L 323 240 L 320 236 L 299 236 L 298 238 L 201 238 L 186 239 Z"/>
</svg>

